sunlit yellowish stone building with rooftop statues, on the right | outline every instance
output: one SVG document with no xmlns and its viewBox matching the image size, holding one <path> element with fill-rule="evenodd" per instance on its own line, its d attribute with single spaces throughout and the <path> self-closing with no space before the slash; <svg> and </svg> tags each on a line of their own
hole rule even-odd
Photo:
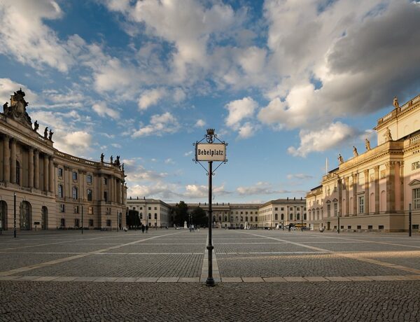
<svg viewBox="0 0 420 322">
<path fill-rule="evenodd" d="M 353 158 L 323 176 L 307 193 L 311 228 L 403 232 L 420 225 L 420 95 L 377 122 L 377 146 L 365 140 L 365 151 L 353 147 Z"/>
</svg>

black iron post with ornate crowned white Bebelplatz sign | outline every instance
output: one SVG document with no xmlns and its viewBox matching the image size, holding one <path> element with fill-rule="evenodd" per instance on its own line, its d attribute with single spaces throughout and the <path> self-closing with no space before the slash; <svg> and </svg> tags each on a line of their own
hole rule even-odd
<svg viewBox="0 0 420 322">
<path fill-rule="evenodd" d="M 201 143 L 204 139 L 206 139 L 206 143 Z M 215 140 L 218 140 L 220 143 L 214 143 Z M 213 249 L 214 246 L 212 244 L 212 237 L 211 237 L 211 220 L 213 219 L 213 209 L 211 208 L 211 200 L 212 200 L 212 176 L 214 176 L 214 171 L 221 166 L 222 163 L 228 162 L 226 159 L 226 146 L 228 145 L 225 141 L 221 141 L 218 139 L 217 134 L 214 134 L 214 129 L 207 129 L 207 134 L 204 135 L 204 138 L 201 141 L 196 141 L 195 144 L 195 159 L 193 161 L 195 163 L 200 163 L 200 161 L 207 161 L 209 162 L 209 170 L 207 171 L 206 168 L 200 163 L 200 165 L 206 170 L 207 175 L 209 176 L 209 244 L 207 244 L 207 251 L 209 253 L 209 274 L 207 276 L 206 285 L 207 286 L 214 286 L 214 278 L 213 278 Z M 221 162 L 216 169 L 213 171 L 213 162 Z"/>
</svg>

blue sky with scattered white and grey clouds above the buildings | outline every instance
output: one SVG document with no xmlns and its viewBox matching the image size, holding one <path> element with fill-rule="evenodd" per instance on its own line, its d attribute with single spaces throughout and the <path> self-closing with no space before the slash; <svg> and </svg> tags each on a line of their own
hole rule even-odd
<svg viewBox="0 0 420 322">
<path fill-rule="evenodd" d="M 1 0 L 0 21 L 1 104 L 22 87 L 59 151 L 120 155 L 128 197 L 207 202 L 207 128 L 214 202 L 304 197 L 420 94 L 420 1 Z"/>
</svg>

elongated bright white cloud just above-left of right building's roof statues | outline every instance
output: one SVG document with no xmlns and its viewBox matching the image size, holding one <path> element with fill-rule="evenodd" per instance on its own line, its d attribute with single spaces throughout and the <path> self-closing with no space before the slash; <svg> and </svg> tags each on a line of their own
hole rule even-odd
<svg viewBox="0 0 420 322">
<path fill-rule="evenodd" d="M 300 130 L 300 146 L 290 146 L 288 153 L 305 157 L 308 153 L 325 151 L 343 144 L 356 134 L 358 133 L 355 129 L 340 122 L 332 123 L 321 130 Z"/>
</svg>

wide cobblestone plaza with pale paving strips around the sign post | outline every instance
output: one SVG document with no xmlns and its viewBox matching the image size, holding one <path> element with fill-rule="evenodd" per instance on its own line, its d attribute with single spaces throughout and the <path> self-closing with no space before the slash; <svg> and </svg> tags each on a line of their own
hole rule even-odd
<svg viewBox="0 0 420 322">
<path fill-rule="evenodd" d="M 1 321 L 418 321 L 420 236 L 214 230 L 0 235 Z"/>
</svg>

